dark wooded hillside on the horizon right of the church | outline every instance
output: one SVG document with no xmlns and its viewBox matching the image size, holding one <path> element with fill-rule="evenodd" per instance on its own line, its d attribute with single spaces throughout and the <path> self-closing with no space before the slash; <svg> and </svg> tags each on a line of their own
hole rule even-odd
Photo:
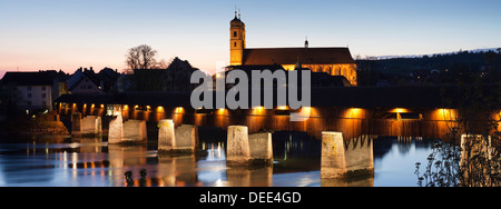
<svg viewBox="0 0 501 209">
<path fill-rule="evenodd" d="M 501 49 L 356 60 L 361 86 L 446 83 L 462 74 L 501 71 Z"/>
</svg>

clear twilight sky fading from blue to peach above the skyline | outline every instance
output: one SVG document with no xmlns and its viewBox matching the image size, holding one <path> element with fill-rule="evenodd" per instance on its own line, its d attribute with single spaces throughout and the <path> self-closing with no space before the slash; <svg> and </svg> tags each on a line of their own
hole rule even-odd
<svg viewBox="0 0 501 209">
<path fill-rule="evenodd" d="M 248 48 L 305 36 L 354 57 L 501 47 L 500 0 L 0 0 L 0 71 L 121 71 L 129 48 L 149 44 L 214 72 L 229 60 L 235 4 Z"/>
</svg>

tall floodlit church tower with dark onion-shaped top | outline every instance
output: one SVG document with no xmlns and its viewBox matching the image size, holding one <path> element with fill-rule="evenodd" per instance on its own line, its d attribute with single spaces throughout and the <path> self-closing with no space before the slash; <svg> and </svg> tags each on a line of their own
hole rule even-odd
<svg viewBox="0 0 501 209">
<path fill-rule="evenodd" d="M 245 49 L 245 23 L 242 22 L 240 14 L 237 17 L 236 11 L 235 19 L 230 22 L 229 32 L 229 63 L 230 66 L 242 66 Z"/>
</svg>

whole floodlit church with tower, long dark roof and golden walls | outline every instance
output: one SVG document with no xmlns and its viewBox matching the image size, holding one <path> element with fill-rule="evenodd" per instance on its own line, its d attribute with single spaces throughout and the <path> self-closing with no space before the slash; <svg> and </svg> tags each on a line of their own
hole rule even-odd
<svg viewBox="0 0 501 209">
<path fill-rule="evenodd" d="M 348 48 L 259 48 L 247 49 L 245 23 L 235 12 L 230 22 L 230 66 L 272 66 L 279 64 L 286 70 L 299 68 L 313 72 L 326 72 L 331 76 L 344 76 L 352 86 L 356 82 L 356 63 Z"/>
</svg>

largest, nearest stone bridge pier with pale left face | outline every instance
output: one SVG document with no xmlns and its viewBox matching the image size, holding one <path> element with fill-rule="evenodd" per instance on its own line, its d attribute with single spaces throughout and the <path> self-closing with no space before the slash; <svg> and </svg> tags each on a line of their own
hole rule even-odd
<svg viewBox="0 0 501 209">
<path fill-rule="evenodd" d="M 374 176 L 374 155 L 370 137 L 344 141 L 341 132 L 322 132 L 322 179 L 371 175 Z"/>
</svg>

